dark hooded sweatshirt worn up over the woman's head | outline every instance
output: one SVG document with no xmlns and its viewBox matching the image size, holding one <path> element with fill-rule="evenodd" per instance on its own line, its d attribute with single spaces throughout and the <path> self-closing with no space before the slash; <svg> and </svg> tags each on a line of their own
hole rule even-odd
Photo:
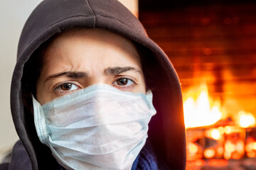
<svg viewBox="0 0 256 170">
<path fill-rule="evenodd" d="M 11 81 L 11 114 L 20 140 L 14 146 L 11 162 L 1 164 L 0 169 L 62 169 L 50 149 L 38 140 L 33 111 L 26 108 L 31 98 L 24 97 L 21 81 L 24 65 L 33 52 L 53 35 L 71 28 L 109 30 L 137 45 L 144 55 L 142 67 L 148 72 L 145 79 L 152 86 L 156 115 L 151 118 L 149 137 L 133 168 L 185 169 L 183 102 L 176 71 L 163 50 L 146 35 L 139 20 L 116 0 L 45 0 L 31 13 L 18 43 Z"/>
</svg>

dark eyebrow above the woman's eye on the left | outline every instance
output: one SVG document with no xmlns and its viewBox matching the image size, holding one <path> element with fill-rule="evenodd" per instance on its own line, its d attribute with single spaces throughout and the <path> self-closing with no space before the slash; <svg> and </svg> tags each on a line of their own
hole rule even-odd
<svg viewBox="0 0 256 170">
<path fill-rule="evenodd" d="M 46 81 L 49 81 L 50 79 L 55 79 L 58 77 L 68 77 L 72 79 L 82 79 L 85 77 L 88 77 L 88 74 L 86 72 L 60 72 L 57 74 L 50 75 L 46 78 Z"/>
</svg>

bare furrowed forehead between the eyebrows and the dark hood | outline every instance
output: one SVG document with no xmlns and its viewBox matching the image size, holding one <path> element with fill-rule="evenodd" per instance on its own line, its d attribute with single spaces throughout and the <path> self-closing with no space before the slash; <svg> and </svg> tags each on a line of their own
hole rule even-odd
<svg viewBox="0 0 256 170">
<path fill-rule="evenodd" d="M 55 37 L 43 56 L 44 68 L 77 64 L 125 64 L 132 62 L 141 67 L 139 52 L 132 40 L 102 29 L 76 28 Z M 75 66 L 74 66 L 75 65 Z M 55 66 L 55 67 L 53 67 Z"/>
</svg>

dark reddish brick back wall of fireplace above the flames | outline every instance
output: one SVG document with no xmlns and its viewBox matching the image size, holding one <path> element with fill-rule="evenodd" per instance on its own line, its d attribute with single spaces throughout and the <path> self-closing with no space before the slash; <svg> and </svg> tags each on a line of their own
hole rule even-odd
<svg viewBox="0 0 256 170">
<path fill-rule="evenodd" d="M 149 37 L 173 62 L 183 91 L 206 82 L 228 113 L 256 115 L 256 4 L 139 11 Z"/>
</svg>

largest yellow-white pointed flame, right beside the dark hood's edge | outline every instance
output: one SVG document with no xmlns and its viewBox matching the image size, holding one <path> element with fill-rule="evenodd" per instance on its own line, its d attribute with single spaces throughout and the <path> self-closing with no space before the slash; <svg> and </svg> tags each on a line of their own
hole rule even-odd
<svg viewBox="0 0 256 170">
<path fill-rule="evenodd" d="M 210 101 L 206 85 L 202 85 L 199 91 L 188 93 L 183 102 L 186 128 L 213 125 L 220 120 L 220 102 Z"/>
</svg>

